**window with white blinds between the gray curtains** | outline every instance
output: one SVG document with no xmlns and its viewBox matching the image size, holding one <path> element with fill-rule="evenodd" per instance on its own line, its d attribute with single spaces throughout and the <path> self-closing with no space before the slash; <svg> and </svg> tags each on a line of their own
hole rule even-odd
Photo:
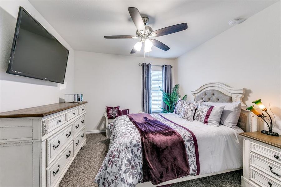
<svg viewBox="0 0 281 187">
<path fill-rule="evenodd" d="M 162 109 L 162 71 L 151 71 L 151 112 L 161 112 Z"/>
</svg>

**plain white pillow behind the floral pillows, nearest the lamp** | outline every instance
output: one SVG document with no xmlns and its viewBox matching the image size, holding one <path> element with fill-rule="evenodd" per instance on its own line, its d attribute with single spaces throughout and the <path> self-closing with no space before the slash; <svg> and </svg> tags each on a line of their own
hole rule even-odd
<svg viewBox="0 0 281 187">
<path fill-rule="evenodd" d="M 208 105 L 220 106 L 225 105 L 225 108 L 220 117 L 220 123 L 236 129 L 236 125 L 238 123 L 238 119 L 241 113 L 241 103 L 233 102 L 233 103 L 211 103 L 211 102 L 203 102 Z"/>
</svg>

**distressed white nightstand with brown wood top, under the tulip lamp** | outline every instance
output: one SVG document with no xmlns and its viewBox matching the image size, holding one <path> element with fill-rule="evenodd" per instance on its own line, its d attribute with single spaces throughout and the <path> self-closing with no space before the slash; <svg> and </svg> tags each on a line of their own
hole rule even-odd
<svg viewBox="0 0 281 187">
<path fill-rule="evenodd" d="M 240 133 L 244 138 L 243 187 L 281 187 L 281 137 L 261 132 Z"/>
</svg>

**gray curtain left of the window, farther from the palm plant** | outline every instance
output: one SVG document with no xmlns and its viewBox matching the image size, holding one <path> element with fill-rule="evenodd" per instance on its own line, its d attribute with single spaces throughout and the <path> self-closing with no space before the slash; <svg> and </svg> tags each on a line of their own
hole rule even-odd
<svg viewBox="0 0 281 187">
<path fill-rule="evenodd" d="M 151 113 L 151 65 L 142 64 L 142 111 Z"/>
</svg>

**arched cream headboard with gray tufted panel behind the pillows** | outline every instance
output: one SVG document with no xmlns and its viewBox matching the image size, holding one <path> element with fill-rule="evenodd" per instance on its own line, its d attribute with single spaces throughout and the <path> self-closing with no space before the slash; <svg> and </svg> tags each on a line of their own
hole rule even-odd
<svg viewBox="0 0 281 187">
<path fill-rule="evenodd" d="M 193 100 L 204 100 L 205 102 L 214 103 L 231 103 L 241 102 L 242 110 L 238 120 L 237 126 L 244 132 L 257 131 L 258 119 L 248 111 L 247 106 L 242 102 L 246 88 L 232 88 L 222 83 L 206 83 L 196 90 L 191 91 Z"/>
</svg>

